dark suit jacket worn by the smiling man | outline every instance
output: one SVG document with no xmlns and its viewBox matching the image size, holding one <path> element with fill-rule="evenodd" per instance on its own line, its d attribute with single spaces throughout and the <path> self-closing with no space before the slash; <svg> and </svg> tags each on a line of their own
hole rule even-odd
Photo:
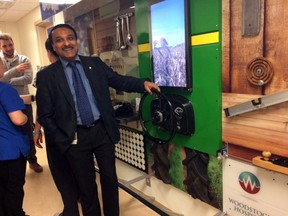
<svg viewBox="0 0 288 216">
<path fill-rule="evenodd" d="M 104 126 L 113 143 L 120 139 L 109 87 L 126 92 L 144 92 L 145 79 L 121 76 L 98 57 L 79 56 L 89 80 Z M 76 132 L 75 104 L 60 61 L 37 74 L 38 121 L 45 131 L 46 143 L 66 151 Z"/>
</svg>

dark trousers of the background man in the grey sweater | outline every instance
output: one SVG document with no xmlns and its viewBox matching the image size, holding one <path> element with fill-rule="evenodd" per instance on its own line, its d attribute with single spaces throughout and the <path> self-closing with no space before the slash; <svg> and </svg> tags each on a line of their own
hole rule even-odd
<svg viewBox="0 0 288 216">
<path fill-rule="evenodd" d="M 27 115 L 28 121 L 24 125 L 24 128 L 28 135 L 30 144 L 30 152 L 27 156 L 27 160 L 30 164 L 34 164 L 37 163 L 37 157 L 36 157 L 36 148 L 33 140 L 33 109 L 31 104 L 26 104 L 25 106 L 26 110 L 24 110 L 24 113 Z"/>
</svg>

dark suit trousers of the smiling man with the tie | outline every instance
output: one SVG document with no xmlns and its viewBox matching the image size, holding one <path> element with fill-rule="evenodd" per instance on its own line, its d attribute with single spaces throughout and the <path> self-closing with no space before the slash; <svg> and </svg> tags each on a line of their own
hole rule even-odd
<svg viewBox="0 0 288 216">
<path fill-rule="evenodd" d="M 78 143 L 68 150 L 67 158 L 76 177 L 84 216 L 101 216 L 96 184 L 94 156 L 100 171 L 105 216 L 119 215 L 118 180 L 115 167 L 115 145 L 107 135 L 102 120 L 94 127 L 77 128 Z"/>
</svg>

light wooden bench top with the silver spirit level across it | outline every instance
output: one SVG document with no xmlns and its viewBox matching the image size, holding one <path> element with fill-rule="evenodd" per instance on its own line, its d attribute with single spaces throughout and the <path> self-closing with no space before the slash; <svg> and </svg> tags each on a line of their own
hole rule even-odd
<svg viewBox="0 0 288 216">
<path fill-rule="evenodd" d="M 261 95 L 223 93 L 222 108 L 253 100 Z M 227 118 L 222 112 L 225 143 L 288 157 L 288 102 Z"/>
</svg>

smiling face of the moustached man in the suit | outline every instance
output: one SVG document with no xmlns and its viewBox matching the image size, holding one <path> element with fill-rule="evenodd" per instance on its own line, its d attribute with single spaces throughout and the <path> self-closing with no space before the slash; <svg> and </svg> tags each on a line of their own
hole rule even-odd
<svg viewBox="0 0 288 216">
<path fill-rule="evenodd" d="M 66 61 L 74 60 L 78 53 L 77 38 L 74 32 L 69 28 L 60 27 L 53 30 L 51 34 L 55 52 Z"/>
</svg>

